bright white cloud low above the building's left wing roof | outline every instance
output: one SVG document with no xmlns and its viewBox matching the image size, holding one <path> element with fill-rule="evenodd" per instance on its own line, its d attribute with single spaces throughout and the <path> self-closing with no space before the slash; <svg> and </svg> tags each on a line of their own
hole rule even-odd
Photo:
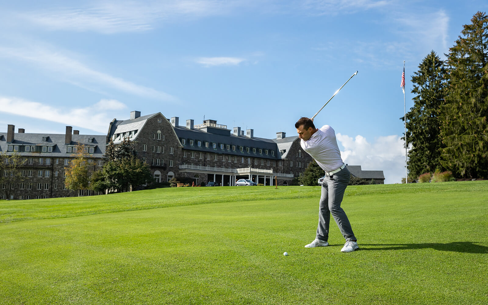
<svg viewBox="0 0 488 305">
<path fill-rule="evenodd" d="M 0 97 L 0 112 L 79 126 L 98 132 L 107 131 L 107 124 L 113 120 L 114 110 L 125 108 L 127 106 L 117 100 L 101 100 L 84 108 L 63 110 L 40 102 Z"/>
</svg>

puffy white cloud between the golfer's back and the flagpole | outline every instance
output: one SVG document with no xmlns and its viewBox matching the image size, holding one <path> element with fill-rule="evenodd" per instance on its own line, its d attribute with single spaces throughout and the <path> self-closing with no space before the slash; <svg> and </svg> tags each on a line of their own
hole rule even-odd
<svg viewBox="0 0 488 305">
<path fill-rule="evenodd" d="M 349 165 L 361 165 L 363 170 L 382 170 L 385 183 L 400 183 L 405 177 L 405 148 L 398 135 L 379 137 L 373 143 L 363 136 L 354 139 L 338 133 L 344 146 L 341 157 Z"/>
</svg>

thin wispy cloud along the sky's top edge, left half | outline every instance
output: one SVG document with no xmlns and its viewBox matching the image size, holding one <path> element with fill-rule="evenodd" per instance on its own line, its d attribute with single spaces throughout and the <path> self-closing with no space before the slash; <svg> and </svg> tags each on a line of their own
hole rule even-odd
<svg viewBox="0 0 488 305">
<path fill-rule="evenodd" d="M 244 1 L 102 1 L 92 6 L 52 8 L 19 13 L 18 16 L 49 30 L 113 34 L 151 30 L 164 20 L 224 14 L 240 5 L 244 5 Z"/>
</svg>

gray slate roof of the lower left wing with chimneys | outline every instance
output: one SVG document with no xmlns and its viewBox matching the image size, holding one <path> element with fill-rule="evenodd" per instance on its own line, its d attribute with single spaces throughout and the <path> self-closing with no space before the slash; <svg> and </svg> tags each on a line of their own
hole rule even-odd
<svg viewBox="0 0 488 305">
<path fill-rule="evenodd" d="M 3 137 L 2 137 L 3 136 Z M 43 137 L 48 137 L 47 141 L 42 141 Z M 35 157 L 51 157 L 51 158 L 73 158 L 75 154 L 67 153 L 67 146 L 74 146 L 78 142 L 84 143 L 87 146 L 94 146 L 95 150 L 91 156 L 101 158 L 105 153 L 106 137 L 103 135 L 72 135 L 71 143 L 64 144 L 65 134 L 45 134 L 45 133 L 15 133 L 14 141 L 7 143 L 7 133 L 0 132 L 0 151 L 7 152 L 8 145 L 23 145 L 23 146 L 52 146 L 52 152 L 20 152 L 21 156 L 35 156 Z M 89 138 L 93 138 L 93 142 L 88 142 Z"/>
</svg>

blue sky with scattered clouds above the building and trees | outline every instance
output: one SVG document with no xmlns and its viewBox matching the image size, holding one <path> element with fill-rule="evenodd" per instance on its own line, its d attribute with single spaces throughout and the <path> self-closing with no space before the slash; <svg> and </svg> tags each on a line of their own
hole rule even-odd
<svg viewBox="0 0 488 305">
<path fill-rule="evenodd" d="M 403 93 L 486 1 L 168 0 L 0 2 L 0 130 L 106 134 L 114 118 L 161 112 L 254 135 L 295 135 L 316 117 L 342 157 L 405 176 Z"/>
</svg>

